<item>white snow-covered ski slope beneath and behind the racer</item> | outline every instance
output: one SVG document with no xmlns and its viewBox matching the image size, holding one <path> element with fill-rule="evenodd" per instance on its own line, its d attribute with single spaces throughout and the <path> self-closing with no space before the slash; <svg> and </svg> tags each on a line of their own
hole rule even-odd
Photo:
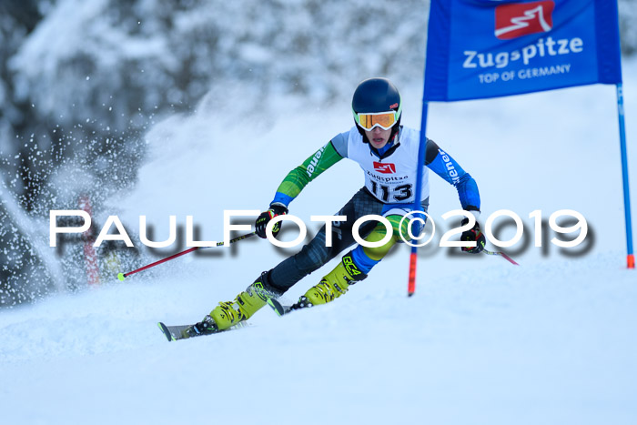
<svg viewBox="0 0 637 425">
<path fill-rule="evenodd" d="M 636 71 L 625 65 L 632 166 Z M 404 123 L 419 126 L 421 87 L 400 88 Z M 146 215 L 157 240 L 169 215 L 192 215 L 200 239 L 221 238 L 224 209 L 267 207 L 288 169 L 351 125 L 346 102 L 295 102 L 281 99 L 278 121 L 212 126 L 200 107 L 160 123 L 134 193 L 112 199 L 110 213 L 132 230 Z M 483 218 L 510 209 L 532 241 L 532 211 L 575 209 L 594 238 L 584 254 L 564 255 L 551 233 L 548 249 L 518 249 L 519 268 L 425 248 L 408 299 L 400 247 L 332 304 L 281 319 L 264 309 L 246 329 L 178 343 L 158 320 L 201 319 L 293 249 L 252 238 L 125 283 L 103 276 L 98 288 L 0 312 L 3 423 L 635 423 L 637 275 L 624 268 L 614 102 L 613 87 L 590 86 L 430 106 L 428 136 L 476 178 Z M 430 213 L 444 228 L 440 215 L 459 203 L 431 180 Z M 316 231 L 309 216 L 333 214 L 361 184 L 342 162 L 290 212 Z"/>
</svg>

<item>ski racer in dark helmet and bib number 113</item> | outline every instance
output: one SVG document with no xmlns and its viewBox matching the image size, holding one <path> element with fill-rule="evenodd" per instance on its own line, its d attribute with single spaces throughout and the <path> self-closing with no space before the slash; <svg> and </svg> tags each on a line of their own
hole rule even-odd
<svg viewBox="0 0 637 425">
<path fill-rule="evenodd" d="M 188 329 L 188 336 L 214 333 L 249 319 L 266 305 L 268 298 L 278 298 L 298 280 L 353 246 L 352 226 L 362 216 L 375 214 L 387 218 L 393 230 L 389 242 L 379 248 L 358 245 L 350 250 L 336 268 L 298 299 L 293 309 L 316 306 L 339 298 L 351 285 L 367 278 L 369 270 L 387 255 L 389 248 L 401 240 L 401 235 L 405 240 L 410 239 L 408 220 L 404 220 L 401 227 L 400 220 L 412 211 L 415 201 L 420 132 L 400 126 L 402 104 L 399 91 L 388 79 L 369 78 L 362 81 L 354 92 L 352 109 L 355 126 L 332 138 L 303 164 L 291 170 L 279 185 L 268 210 L 261 213 L 255 223 L 257 235 L 266 238 L 268 222 L 287 214 L 289 203 L 298 197 L 310 181 L 347 157 L 359 163 L 363 169 L 365 186 L 337 214 L 346 216 L 347 220 L 333 224 L 332 246 L 326 247 L 326 226 L 323 226 L 298 254 L 261 273 L 236 299 L 220 302 L 201 322 Z M 429 207 L 429 167 L 456 187 L 462 208 L 478 218 L 480 194 L 475 180 L 430 139 L 426 145 L 425 165 L 420 197 L 424 210 L 427 211 Z M 465 218 L 463 224 L 467 222 Z M 280 222 L 272 230 L 276 236 Z M 386 233 L 385 226 L 374 221 L 367 221 L 359 228 L 361 238 L 369 242 L 378 242 Z M 412 231 L 412 235 L 418 233 L 418 230 Z M 485 238 L 477 221 L 473 228 L 461 235 L 460 240 L 476 242 L 475 247 L 463 247 L 463 251 L 479 253 L 484 248 Z"/>
</svg>

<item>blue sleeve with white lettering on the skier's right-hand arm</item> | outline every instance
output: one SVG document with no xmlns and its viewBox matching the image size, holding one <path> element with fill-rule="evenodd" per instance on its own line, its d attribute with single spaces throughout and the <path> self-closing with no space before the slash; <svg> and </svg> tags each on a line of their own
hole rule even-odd
<svg viewBox="0 0 637 425">
<path fill-rule="evenodd" d="M 460 205 L 468 211 L 480 211 L 480 192 L 473 177 L 432 140 L 427 142 L 427 167 L 456 187 Z"/>
</svg>

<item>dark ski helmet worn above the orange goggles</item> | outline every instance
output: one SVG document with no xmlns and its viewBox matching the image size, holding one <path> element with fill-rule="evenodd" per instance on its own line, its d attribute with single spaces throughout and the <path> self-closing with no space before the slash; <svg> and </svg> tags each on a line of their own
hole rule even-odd
<svg viewBox="0 0 637 425">
<path fill-rule="evenodd" d="M 378 113 L 396 111 L 396 124 L 392 127 L 391 137 L 398 132 L 400 126 L 400 116 L 402 115 L 402 104 L 398 88 L 387 78 L 368 78 L 363 80 L 356 90 L 351 100 L 354 122 L 359 129 L 359 133 L 365 136 L 365 130 L 359 126 L 358 114 Z"/>
</svg>

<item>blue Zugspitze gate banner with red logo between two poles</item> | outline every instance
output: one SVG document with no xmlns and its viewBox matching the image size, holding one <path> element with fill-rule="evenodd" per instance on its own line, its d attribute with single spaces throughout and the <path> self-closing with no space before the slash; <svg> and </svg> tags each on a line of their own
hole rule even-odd
<svg viewBox="0 0 637 425">
<path fill-rule="evenodd" d="M 621 82 L 616 0 L 431 0 L 425 101 Z"/>
</svg>

